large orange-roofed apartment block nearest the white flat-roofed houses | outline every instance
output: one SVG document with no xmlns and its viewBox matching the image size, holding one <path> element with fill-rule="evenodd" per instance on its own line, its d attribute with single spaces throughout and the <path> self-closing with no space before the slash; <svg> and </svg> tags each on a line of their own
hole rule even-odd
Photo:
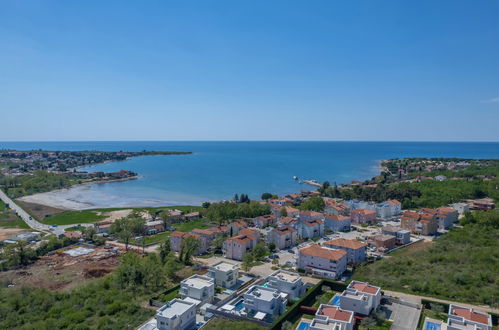
<svg viewBox="0 0 499 330">
<path fill-rule="evenodd" d="M 298 251 L 296 265 L 313 275 L 337 279 L 347 268 L 347 253 L 311 244 Z"/>
</svg>

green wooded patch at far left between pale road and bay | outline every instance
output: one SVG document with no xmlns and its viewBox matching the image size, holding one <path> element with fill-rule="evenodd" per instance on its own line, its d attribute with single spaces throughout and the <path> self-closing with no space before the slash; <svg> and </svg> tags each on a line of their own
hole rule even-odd
<svg viewBox="0 0 499 330">
<path fill-rule="evenodd" d="M 67 174 L 34 171 L 16 177 L 0 177 L 0 188 L 11 197 L 20 197 L 70 187 L 78 180 Z"/>
</svg>

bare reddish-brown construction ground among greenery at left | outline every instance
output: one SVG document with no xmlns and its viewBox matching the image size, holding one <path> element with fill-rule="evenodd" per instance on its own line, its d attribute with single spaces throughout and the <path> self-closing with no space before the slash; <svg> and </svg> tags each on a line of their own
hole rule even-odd
<svg viewBox="0 0 499 330">
<path fill-rule="evenodd" d="M 119 247 L 78 243 L 52 251 L 26 267 L 2 272 L 0 282 L 64 291 L 111 273 L 123 252 Z"/>
</svg>

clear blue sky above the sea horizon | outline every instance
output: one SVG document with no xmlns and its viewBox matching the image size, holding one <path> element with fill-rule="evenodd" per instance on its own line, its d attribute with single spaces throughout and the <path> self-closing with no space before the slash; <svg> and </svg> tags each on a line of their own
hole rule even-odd
<svg viewBox="0 0 499 330">
<path fill-rule="evenodd" d="M 499 141 L 499 1 L 0 0 L 0 141 Z"/>
</svg>

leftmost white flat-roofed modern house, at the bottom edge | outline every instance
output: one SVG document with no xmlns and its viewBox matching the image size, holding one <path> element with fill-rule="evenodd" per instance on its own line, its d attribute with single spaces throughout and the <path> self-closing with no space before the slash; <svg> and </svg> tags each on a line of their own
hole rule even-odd
<svg viewBox="0 0 499 330">
<path fill-rule="evenodd" d="M 196 304 L 173 299 L 156 311 L 159 330 L 187 330 L 196 325 Z"/>
</svg>

